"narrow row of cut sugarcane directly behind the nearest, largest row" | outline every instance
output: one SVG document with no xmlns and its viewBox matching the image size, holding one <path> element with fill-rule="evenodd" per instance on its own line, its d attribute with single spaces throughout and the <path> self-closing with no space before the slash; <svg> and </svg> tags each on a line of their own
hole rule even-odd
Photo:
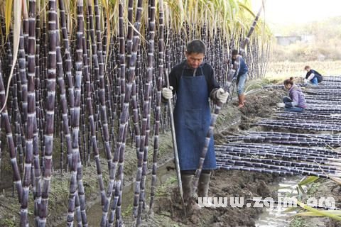
<svg viewBox="0 0 341 227">
<path fill-rule="evenodd" d="M 276 143 L 304 146 L 330 146 L 337 147 L 341 143 L 341 135 L 331 134 L 300 134 L 250 131 L 247 135 L 230 135 L 225 138 L 226 142 L 244 141 L 244 143 Z"/>
</svg>

